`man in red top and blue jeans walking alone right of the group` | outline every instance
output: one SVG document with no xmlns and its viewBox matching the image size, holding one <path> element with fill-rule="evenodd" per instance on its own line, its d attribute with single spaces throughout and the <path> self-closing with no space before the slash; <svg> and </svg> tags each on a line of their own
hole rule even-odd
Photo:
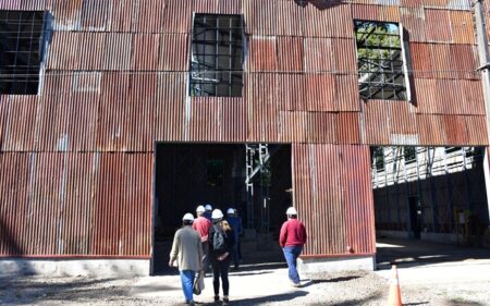
<svg viewBox="0 0 490 306">
<path fill-rule="evenodd" d="M 303 250 L 306 243 L 306 229 L 302 222 L 297 220 L 297 212 L 294 207 L 286 210 L 287 221 L 282 224 L 279 244 L 284 253 L 287 262 L 290 280 L 293 286 L 299 286 L 299 276 L 296 270 L 296 259 Z"/>
</svg>

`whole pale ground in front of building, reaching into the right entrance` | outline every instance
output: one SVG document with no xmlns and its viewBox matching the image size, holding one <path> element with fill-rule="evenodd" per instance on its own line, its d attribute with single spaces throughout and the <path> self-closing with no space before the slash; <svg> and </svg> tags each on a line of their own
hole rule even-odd
<svg viewBox="0 0 490 306">
<path fill-rule="evenodd" d="M 291 287 L 283 262 L 244 266 L 230 276 L 230 305 L 387 305 L 390 262 L 399 266 L 404 305 L 490 305 L 490 249 L 412 241 L 378 242 L 376 272 L 323 273 Z M 0 279 L 0 305 L 183 305 L 172 274 L 132 279 Z M 198 305 L 212 303 L 211 278 Z"/>
</svg>

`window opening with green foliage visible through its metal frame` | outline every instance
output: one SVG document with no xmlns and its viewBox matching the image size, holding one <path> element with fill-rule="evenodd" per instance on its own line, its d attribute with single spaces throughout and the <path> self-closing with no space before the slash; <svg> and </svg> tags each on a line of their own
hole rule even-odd
<svg viewBox="0 0 490 306">
<path fill-rule="evenodd" d="M 363 99 L 407 100 L 402 28 L 397 23 L 355 21 Z"/>
</svg>

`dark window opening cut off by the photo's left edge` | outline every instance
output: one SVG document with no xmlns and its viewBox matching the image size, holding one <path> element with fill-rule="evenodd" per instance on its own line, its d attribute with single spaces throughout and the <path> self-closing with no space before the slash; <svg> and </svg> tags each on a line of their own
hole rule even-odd
<svg viewBox="0 0 490 306">
<path fill-rule="evenodd" d="M 0 11 L 0 94 L 37 95 L 42 11 Z"/>
</svg>

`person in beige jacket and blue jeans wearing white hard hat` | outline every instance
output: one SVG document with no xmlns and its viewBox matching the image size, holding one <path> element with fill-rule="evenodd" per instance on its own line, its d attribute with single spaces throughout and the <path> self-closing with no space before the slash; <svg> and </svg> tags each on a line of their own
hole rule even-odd
<svg viewBox="0 0 490 306">
<path fill-rule="evenodd" d="M 193 230 L 194 216 L 185 213 L 182 218 L 182 228 L 173 237 L 172 250 L 170 252 L 169 266 L 173 267 L 177 260 L 181 274 L 182 290 L 185 303 L 195 305 L 193 297 L 193 284 L 196 272 L 203 270 L 203 246 L 199 234 Z"/>
</svg>

